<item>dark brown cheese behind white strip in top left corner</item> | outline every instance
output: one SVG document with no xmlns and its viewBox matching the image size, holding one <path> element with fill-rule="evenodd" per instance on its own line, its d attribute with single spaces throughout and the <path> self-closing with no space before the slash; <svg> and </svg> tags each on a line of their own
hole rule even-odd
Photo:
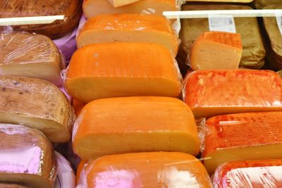
<svg viewBox="0 0 282 188">
<path fill-rule="evenodd" d="M 64 15 L 63 20 L 49 24 L 15 25 L 14 30 L 37 32 L 51 38 L 59 38 L 71 32 L 82 14 L 80 0 L 4 0 L 0 1 L 0 18 Z"/>
</svg>

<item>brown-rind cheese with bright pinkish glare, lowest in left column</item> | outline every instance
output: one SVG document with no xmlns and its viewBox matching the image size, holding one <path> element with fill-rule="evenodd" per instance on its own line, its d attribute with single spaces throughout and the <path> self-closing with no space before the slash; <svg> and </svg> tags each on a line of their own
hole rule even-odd
<svg viewBox="0 0 282 188">
<path fill-rule="evenodd" d="M 0 182 L 30 188 L 51 188 L 56 157 L 49 140 L 38 130 L 0 124 Z"/>
</svg>

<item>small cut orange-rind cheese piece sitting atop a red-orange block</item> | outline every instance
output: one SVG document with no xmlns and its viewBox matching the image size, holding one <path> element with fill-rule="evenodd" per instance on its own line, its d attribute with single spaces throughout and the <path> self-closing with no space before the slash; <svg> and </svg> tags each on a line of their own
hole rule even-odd
<svg viewBox="0 0 282 188">
<path fill-rule="evenodd" d="M 240 34 L 204 32 L 192 44 L 192 70 L 237 69 L 242 56 Z"/>
</svg>

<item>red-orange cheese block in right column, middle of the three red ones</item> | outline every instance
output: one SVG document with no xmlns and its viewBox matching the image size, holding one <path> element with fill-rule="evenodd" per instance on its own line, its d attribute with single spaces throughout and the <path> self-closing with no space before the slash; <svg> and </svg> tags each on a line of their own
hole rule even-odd
<svg viewBox="0 0 282 188">
<path fill-rule="evenodd" d="M 281 118 L 282 112 L 209 118 L 203 152 L 208 172 L 225 162 L 282 158 Z"/>
</svg>

